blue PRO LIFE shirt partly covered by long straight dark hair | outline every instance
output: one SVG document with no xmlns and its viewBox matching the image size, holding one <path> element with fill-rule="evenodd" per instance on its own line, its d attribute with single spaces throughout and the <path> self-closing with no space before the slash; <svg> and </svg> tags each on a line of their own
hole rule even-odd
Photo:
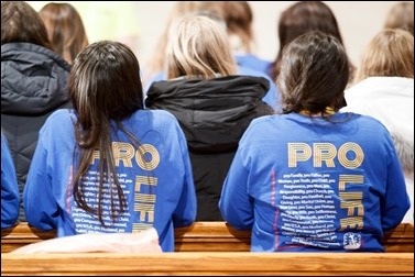
<svg viewBox="0 0 415 277">
<path fill-rule="evenodd" d="M 114 222 L 110 200 L 103 200 L 103 222 L 78 208 L 70 176 L 75 115 L 70 110 L 54 112 L 40 132 L 23 200 L 30 224 L 57 230 L 57 236 L 91 232 L 135 232 L 154 226 L 164 252 L 174 251 L 174 228 L 194 222 L 196 193 L 184 134 L 177 120 L 165 111 L 136 111 L 122 123 L 141 144 L 136 149 L 121 131 L 111 134 L 118 178 L 128 211 Z M 144 153 L 140 158 L 139 152 Z M 77 156 L 77 154 L 75 154 Z M 76 158 L 75 158 L 76 159 Z M 77 159 L 76 159 L 77 160 Z M 97 159 L 85 177 L 86 201 L 97 207 Z M 108 195 L 108 188 L 105 193 Z"/>
</svg>

